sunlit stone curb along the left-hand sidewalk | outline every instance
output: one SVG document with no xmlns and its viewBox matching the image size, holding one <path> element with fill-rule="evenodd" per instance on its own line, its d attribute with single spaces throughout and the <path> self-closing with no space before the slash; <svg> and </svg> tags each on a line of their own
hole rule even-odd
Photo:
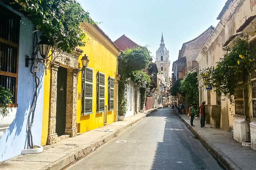
<svg viewBox="0 0 256 170">
<path fill-rule="evenodd" d="M 84 156 L 88 155 L 91 151 L 94 151 L 94 149 L 100 147 L 102 144 L 104 144 L 107 141 L 109 141 L 110 139 L 116 137 L 119 133 L 121 133 L 128 127 L 131 127 L 138 121 L 144 119 L 146 116 L 150 115 L 152 112 L 156 111 L 159 108 L 161 108 L 161 107 L 155 108 L 155 109 L 149 111 L 148 113 L 145 113 L 144 116 L 133 121 L 132 123 L 129 123 L 128 125 L 120 127 L 120 129 L 117 129 L 116 131 L 112 132 L 111 134 L 106 135 L 106 136 L 98 139 L 97 141 L 90 143 L 87 147 L 78 148 L 76 151 L 60 158 L 59 160 L 57 160 L 55 162 L 52 162 L 51 164 L 47 165 L 46 167 L 44 167 L 40 170 L 60 170 L 60 169 L 64 168 L 65 166 L 68 166 L 69 164 L 74 163 L 76 160 L 79 160 L 80 158 L 83 158 Z"/>
</svg>

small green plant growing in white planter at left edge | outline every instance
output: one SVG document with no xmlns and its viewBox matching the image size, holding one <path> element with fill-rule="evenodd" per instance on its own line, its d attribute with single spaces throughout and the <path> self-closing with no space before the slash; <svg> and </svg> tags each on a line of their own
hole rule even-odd
<svg viewBox="0 0 256 170">
<path fill-rule="evenodd" d="M 12 92 L 10 89 L 6 89 L 0 86 L 0 109 L 2 109 L 2 115 L 6 116 L 9 111 L 7 107 L 12 104 Z"/>
</svg>

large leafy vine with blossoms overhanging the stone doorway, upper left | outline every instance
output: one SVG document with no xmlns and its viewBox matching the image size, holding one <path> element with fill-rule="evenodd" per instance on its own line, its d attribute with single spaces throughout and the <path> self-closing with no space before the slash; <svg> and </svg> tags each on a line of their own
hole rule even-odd
<svg viewBox="0 0 256 170">
<path fill-rule="evenodd" d="M 76 0 L 18 0 L 18 3 L 42 36 L 58 49 L 70 53 L 85 45 L 80 23 L 94 24 L 94 21 Z"/>
</svg>

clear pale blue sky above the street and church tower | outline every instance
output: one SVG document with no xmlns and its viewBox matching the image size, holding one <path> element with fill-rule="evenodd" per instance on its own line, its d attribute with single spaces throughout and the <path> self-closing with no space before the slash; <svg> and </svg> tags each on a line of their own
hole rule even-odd
<svg viewBox="0 0 256 170">
<path fill-rule="evenodd" d="M 126 35 L 147 46 L 154 58 L 163 33 L 170 66 L 183 43 L 216 27 L 226 0 L 78 0 L 99 27 L 115 41 Z"/>
</svg>

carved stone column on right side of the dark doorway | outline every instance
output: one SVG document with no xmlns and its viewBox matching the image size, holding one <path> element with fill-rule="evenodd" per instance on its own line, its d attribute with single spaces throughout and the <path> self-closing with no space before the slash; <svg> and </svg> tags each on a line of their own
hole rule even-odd
<svg viewBox="0 0 256 170">
<path fill-rule="evenodd" d="M 68 69 L 67 101 L 66 101 L 66 129 L 65 134 L 74 137 L 77 134 L 77 76 L 79 69 Z"/>
</svg>

